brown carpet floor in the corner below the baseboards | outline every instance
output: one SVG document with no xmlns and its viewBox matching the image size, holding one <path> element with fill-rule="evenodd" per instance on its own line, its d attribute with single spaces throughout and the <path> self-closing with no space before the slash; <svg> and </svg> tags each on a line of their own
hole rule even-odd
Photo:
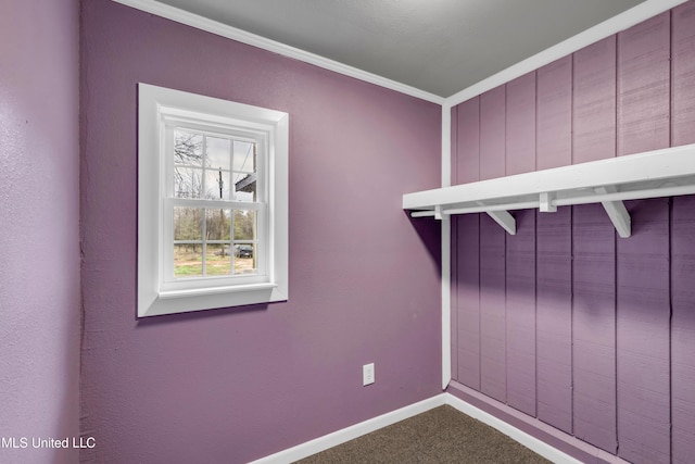
<svg viewBox="0 0 695 464">
<path fill-rule="evenodd" d="M 452 406 L 434 407 L 301 464 L 541 464 L 549 461 Z"/>
</svg>

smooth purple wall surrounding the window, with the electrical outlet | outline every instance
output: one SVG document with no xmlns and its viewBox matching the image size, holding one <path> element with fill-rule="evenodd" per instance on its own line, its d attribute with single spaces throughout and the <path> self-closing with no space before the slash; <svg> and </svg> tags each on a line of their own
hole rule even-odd
<svg viewBox="0 0 695 464">
<path fill-rule="evenodd" d="M 439 229 L 401 209 L 439 105 L 106 0 L 81 78 L 84 462 L 248 462 L 440 391 Z M 289 302 L 136 321 L 138 81 L 290 114 Z"/>
</svg>

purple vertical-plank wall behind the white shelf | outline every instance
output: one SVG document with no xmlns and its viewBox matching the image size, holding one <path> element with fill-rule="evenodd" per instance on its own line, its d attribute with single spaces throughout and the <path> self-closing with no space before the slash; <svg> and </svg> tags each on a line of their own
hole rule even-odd
<svg viewBox="0 0 695 464">
<path fill-rule="evenodd" d="M 454 183 L 695 142 L 693 50 L 690 1 L 462 103 Z M 516 236 L 498 237 L 486 215 L 453 222 L 454 379 L 538 436 L 547 429 L 533 421 L 552 426 L 579 456 L 590 443 L 635 463 L 685 463 L 695 197 L 626 206 L 629 239 L 601 205 L 514 212 Z"/>
</svg>

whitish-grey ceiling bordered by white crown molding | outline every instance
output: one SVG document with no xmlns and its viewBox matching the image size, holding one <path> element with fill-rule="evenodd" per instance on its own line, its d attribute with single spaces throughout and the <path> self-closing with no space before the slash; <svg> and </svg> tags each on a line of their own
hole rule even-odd
<svg viewBox="0 0 695 464">
<path fill-rule="evenodd" d="M 643 0 L 160 0 L 450 97 Z"/>
</svg>

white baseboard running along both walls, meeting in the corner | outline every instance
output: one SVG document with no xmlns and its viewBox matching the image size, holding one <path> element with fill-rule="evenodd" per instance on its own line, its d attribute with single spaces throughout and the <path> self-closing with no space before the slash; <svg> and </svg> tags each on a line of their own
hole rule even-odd
<svg viewBox="0 0 695 464">
<path fill-rule="evenodd" d="M 462 413 L 500 430 L 504 435 L 554 463 L 581 464 L 580 461 L 571 457 L 570 455 L 450 393 L 441 393 L 418 403 L 410 404 L 409 406 L 337 430 L 332 434 L 325 435 L 305 443 L 298 444 L 296 447 L 253 461 L 251 464 L 292 463 L 444 404 L 448 404 Z"/>
</svg>

